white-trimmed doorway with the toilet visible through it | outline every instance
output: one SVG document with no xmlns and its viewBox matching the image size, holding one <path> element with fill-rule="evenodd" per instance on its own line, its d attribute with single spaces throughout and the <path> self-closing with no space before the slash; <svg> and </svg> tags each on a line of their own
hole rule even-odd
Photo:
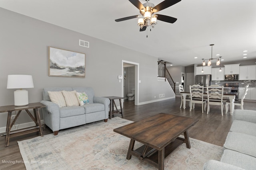
<svg viewBox="0 0 256 170">
<path fill-rule="evenodd" d="M 139 99 L 139 63 L 122 60 L 122 97 L 134 92 L 134 105 L 138 105 Z M 122 100 L 124 102 L 124 100 Z"/>
</svg>

